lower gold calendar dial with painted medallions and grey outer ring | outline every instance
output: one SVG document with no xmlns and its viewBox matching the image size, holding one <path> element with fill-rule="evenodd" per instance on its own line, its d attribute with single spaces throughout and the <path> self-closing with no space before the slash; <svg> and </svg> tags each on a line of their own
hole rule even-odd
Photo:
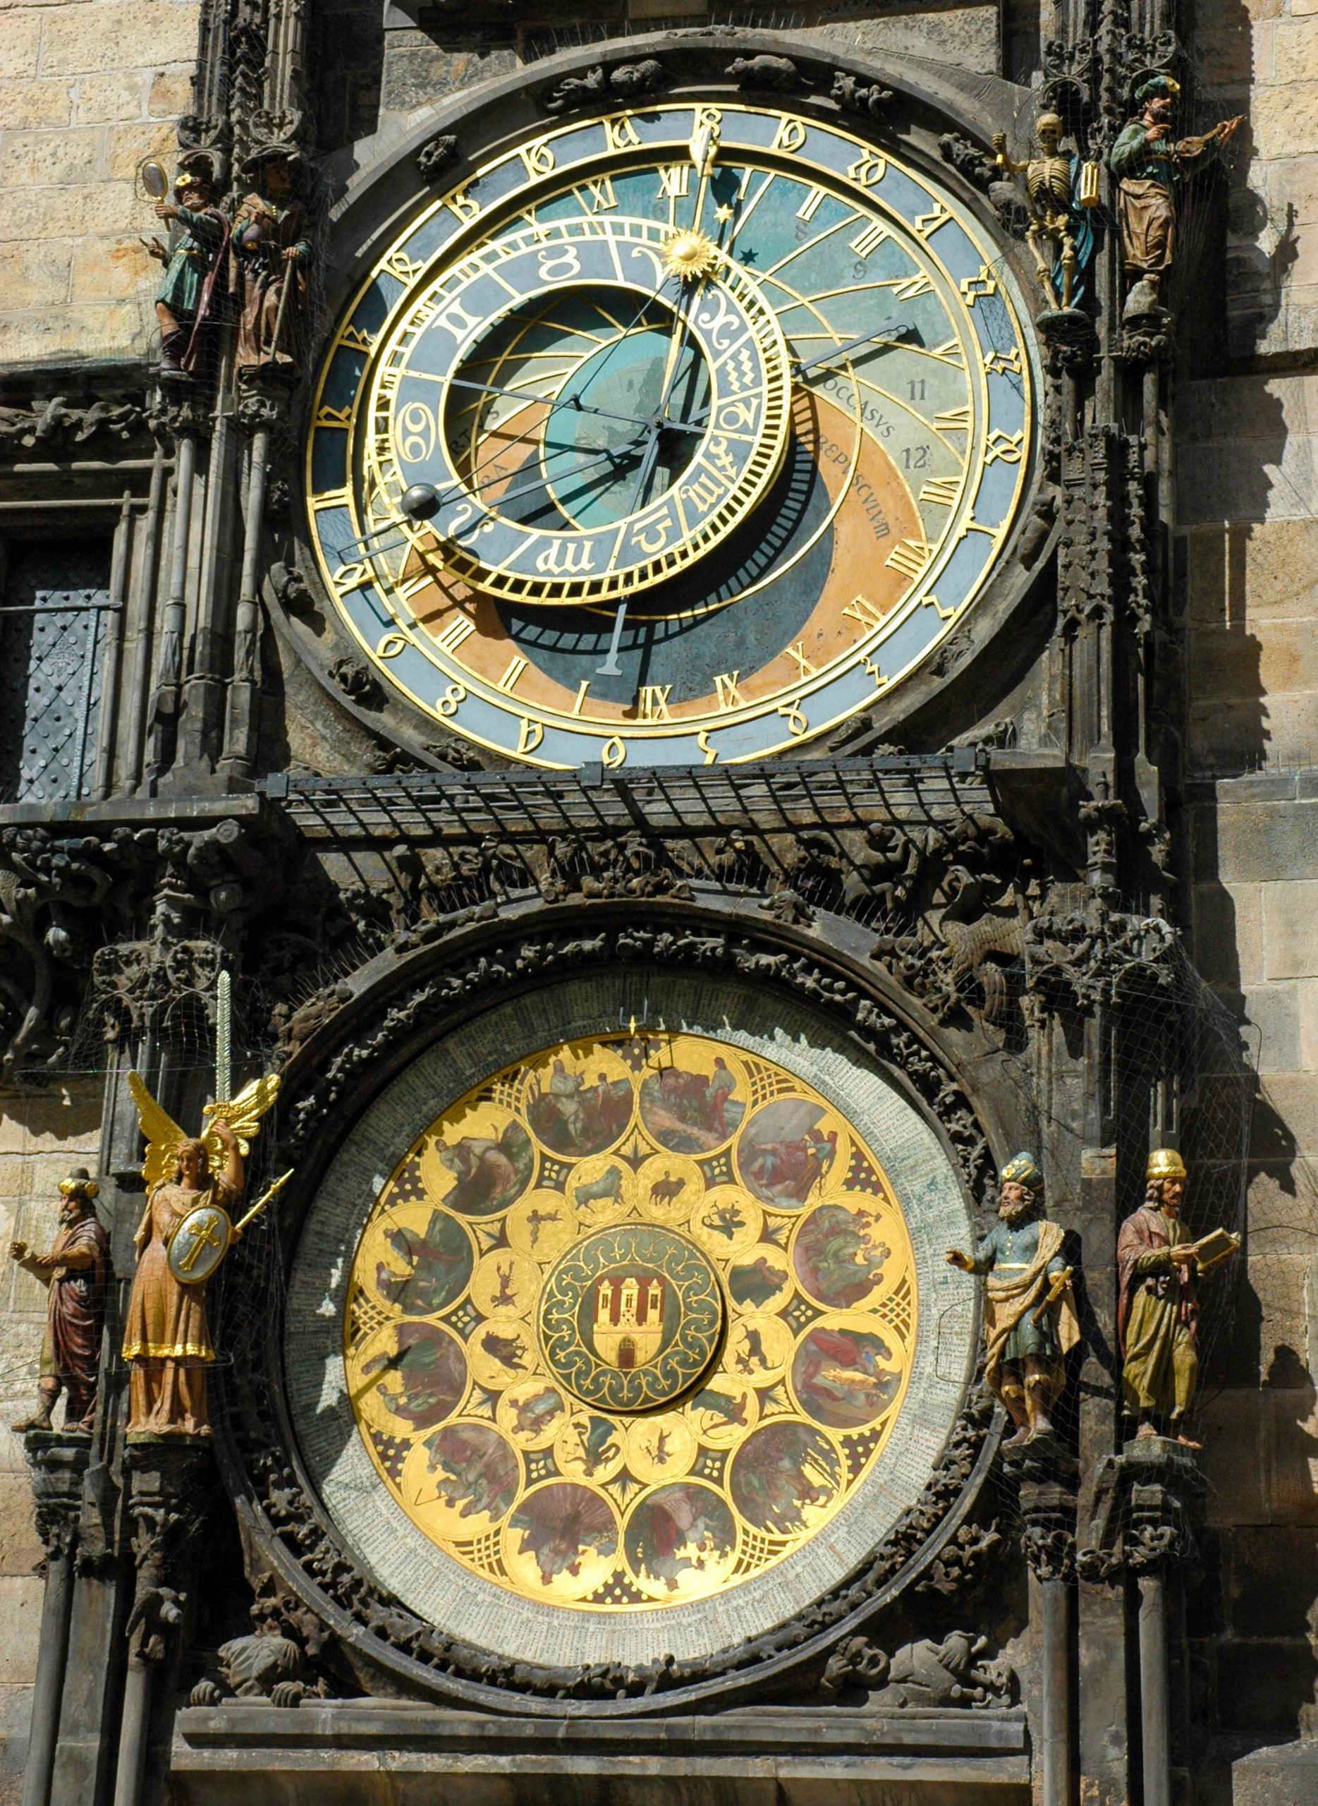
<svg viewBox="0 0 1318 1806">
<path fill-rule="evenodd" d="M 964 1203 L 917 1111 L 811 1013 L 657 995 L 686 1029 L 545 1044 L 560 986 L 446 1037 L 350 1131 L 294 1268 L 338 1524 L 529 1662 L 764 1633 L 892 1524 L 964 1383 Z"/>
</svg>

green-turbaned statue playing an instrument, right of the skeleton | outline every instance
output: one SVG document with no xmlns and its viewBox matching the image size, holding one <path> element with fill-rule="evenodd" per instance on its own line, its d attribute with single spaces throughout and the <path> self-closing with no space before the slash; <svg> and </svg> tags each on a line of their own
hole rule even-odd
<svg viewBox="0 0 1318 1806">
<path fill-rule="evenodd" d="M 1170 76 L 1154 76 L 1136 88 L 1139 117 L 1121 128 L 1109 157 L 1118 177 L 1127 275 L 1148 284 L 1154 303 L 1163 276 L 1175 262 L 1177 184 L 1204 170 L 1240 125 L 1240 119 L 1222 119 L 1211 132 L 1172 144 L 1172 112 L 1179 92 L 1181 83 Z"/>
</svg>

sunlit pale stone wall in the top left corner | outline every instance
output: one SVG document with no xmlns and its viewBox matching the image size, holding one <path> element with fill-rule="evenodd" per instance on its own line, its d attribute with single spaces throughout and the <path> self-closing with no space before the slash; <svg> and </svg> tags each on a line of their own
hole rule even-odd
<svg viewBox="0 0 1318 1806">
<path fill-rule="evenodd" d="M 159 222 L 134 175 L 173 152 L 197 0 L 0 7 L 0 368 L 143 358 Z"/>
</svg>

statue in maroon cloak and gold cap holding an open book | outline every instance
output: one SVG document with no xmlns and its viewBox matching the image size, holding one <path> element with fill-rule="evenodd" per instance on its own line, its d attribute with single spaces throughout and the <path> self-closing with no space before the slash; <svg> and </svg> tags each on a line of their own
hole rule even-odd
<svg viewBox="0 0 1318 1806">
<path fill-rule="evenodd" d="M 1186 1241 L 1186 1178 L 1175 1149 L 1159 1147 L 1148 1156 L 1145 1203 L 1118 1237 L 1118 1336 L 1121 1392 L 1137 1420 L 1136 1436 L 1159 1436 L 1165 1427 L 1186 1448 L 1197 1448 L 1186 1434 L 1199 1378 L 1197 1280 L 1230 1259 L 1240 1237 L 1213 1230 L 1202 1241 Z"/>
</svg>

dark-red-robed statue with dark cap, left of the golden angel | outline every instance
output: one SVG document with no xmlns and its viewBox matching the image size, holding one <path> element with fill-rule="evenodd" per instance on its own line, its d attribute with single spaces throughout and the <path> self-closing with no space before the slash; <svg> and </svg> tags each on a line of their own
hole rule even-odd
<svg viewBox="0 0 1318 1806">
<path fill-rule="evenodd" d="M 110 1244 L 96 1217 L 99 1185 L 87 1167 L 60 1181 L 60 1230 L 49 1253 L 9 1243 L 9 1257 L 47 1288 L 45 1336 L 36 1382 L 38 1405 L 16 1430 L 52 1429 L 51 1412 L 65 1394 L 65 1430 L 90 1434 L 105 1326 Z"/>
</svg>

